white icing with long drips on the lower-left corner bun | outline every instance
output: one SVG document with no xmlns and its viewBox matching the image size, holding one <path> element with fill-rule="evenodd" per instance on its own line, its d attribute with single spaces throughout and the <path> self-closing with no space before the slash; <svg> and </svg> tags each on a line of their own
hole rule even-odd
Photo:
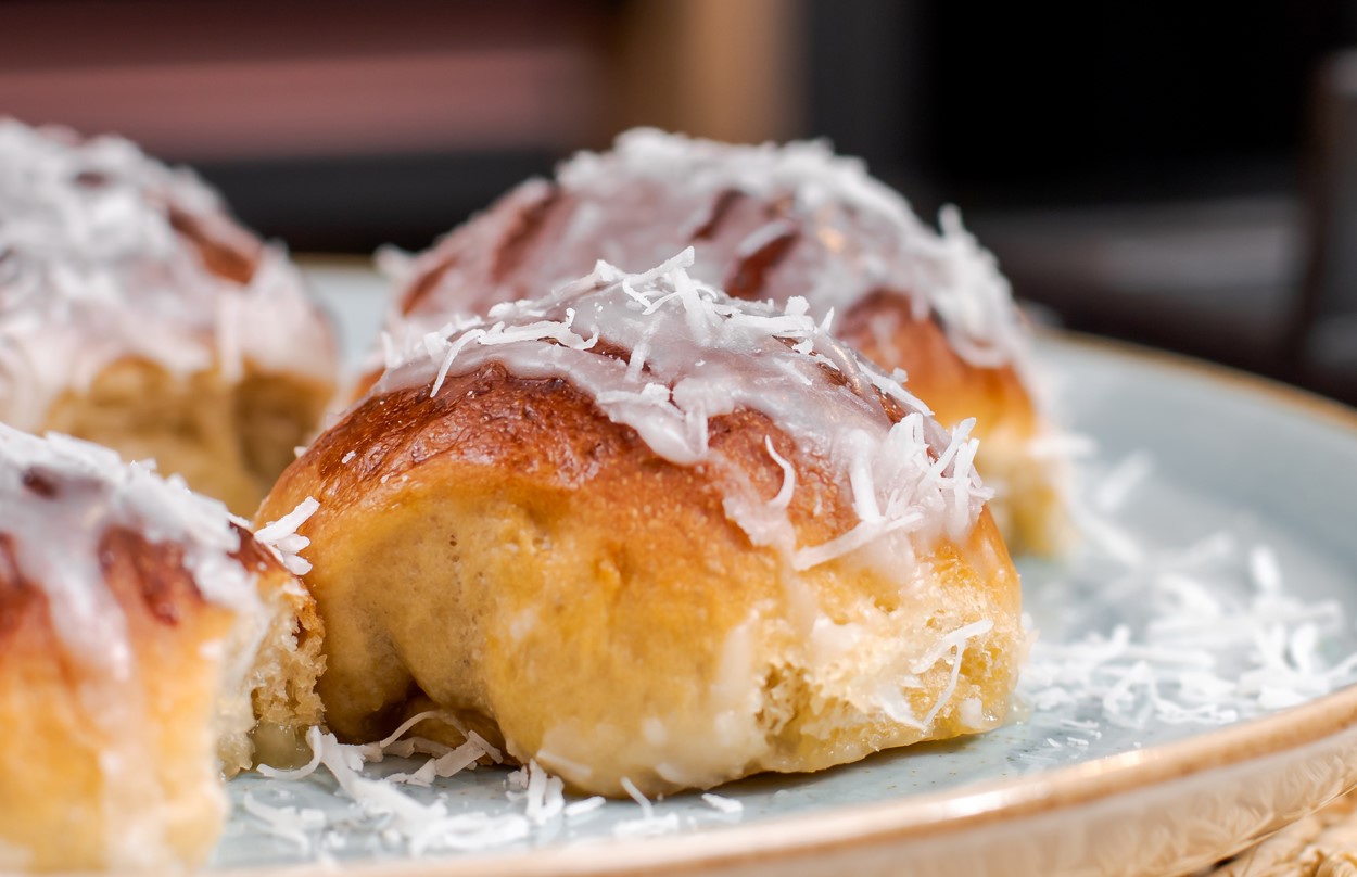
<svg viewBox="0 0 1357 877">
<path fill-rule="evenodd" d="M 111 528 L 128 528 L 151 543 L 179 548 L 185 569 L 209 601 L 235 612 L 221 638 L 202 643 L 223 680 L 214 726 L 243 733 L 252 724 L 244 680 L 267 612 L 256 591 L 256 570 L 232 557 L 240 536 L 225 506 L 191 493 L 182 481 L 163 479 L 144 464 L 123 464 L 117 453 L 65 436 L 39 438 L 0 425 L 0 535 L 7 536 L 16 572 L 46 597 L 58 648 L 75 669 L 72 682 L 81 721 L 94 729 L 103 774 L 96 790 L 107 827 L 107 862 L 153 867 L 172 858 L 168 820 L 147 815 L 164 805 L 156 781 L 159 752 L 147 724 L 142 673 L 134 660 L 126 615 L 110 591 L 100 548 Z M 0 610 L 3 611 L 3 610 Z"/>
</svg>

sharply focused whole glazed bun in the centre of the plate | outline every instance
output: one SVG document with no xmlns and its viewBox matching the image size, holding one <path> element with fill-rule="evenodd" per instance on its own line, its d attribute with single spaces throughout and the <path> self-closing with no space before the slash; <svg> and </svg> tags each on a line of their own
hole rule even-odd
<svg viewBox="0 0 1357 877">
<path fill-rule="evenodd" d="M 284 472 L 341 739 L 441 707 L 579 791 L 999 725 L 1018 576 L 963 424 L 806 314 L 600 263 L 395 350 Z"/>
</svg>

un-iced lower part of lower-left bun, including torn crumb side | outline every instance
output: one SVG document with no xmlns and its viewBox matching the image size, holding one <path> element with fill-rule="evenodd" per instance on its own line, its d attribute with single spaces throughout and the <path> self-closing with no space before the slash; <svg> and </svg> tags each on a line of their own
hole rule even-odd
<svg viewBox="0 0 1357 877">
<path fill-rule="evenodd" d="M 252 612 L 205 600 L 172 543 L 106 532 L 119 660 L 61 634 L 0 534 L 0 872 L 195 869 L 225 823 L 223 774 L 255 759 L 255 713 L 293 733 L 319 721 L 311 601 L 242 539 L 237 561 L 258 572 Z"/>
</svg>

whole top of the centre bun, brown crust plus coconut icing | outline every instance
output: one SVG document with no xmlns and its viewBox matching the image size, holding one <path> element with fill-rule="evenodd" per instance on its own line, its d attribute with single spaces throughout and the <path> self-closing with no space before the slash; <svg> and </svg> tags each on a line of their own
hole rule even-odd
<svg viewBox="0 0 1357 877">
<path fill-rule="evenodd" d="M 642 274 L 601 266 L 419 338 L 293 468 L 341 491 L 318 494 L 326 515 L 429 460 L 592 478 L 607 449 L 626 445 L 626 471 L 691 470 L 754 544 L 776 543 L 798 567 L 878 539 L 962 539 L 988 496 L 969 426 L 943 430 L 803 300 L 733 300 L 692 278 L 692 259 L 688 250 Z M 731 438 L 746 429 L 748 441 Z M 769 474 L 784 490 L 756 487 Z M 792 513 L 803 498 L 822 519 Z M 848 531 L 849 543 L 829 544 Z"/>
</svg>

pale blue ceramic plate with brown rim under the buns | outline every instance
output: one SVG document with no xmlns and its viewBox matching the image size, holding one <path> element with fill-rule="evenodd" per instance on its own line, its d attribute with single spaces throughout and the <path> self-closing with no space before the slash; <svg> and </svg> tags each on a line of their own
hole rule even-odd
<svg viewBox="0 0 1357 877">
<path fill-rule="evenodd" d="M 353 361 L 376 331 L 380 284 L 335 265 L 312 277 Z M 243 777 L 229 785 L 235 816 L 212 867 L 1186 873 L 1357 783 L 1357 415 L 1107 343 L 1044 337 L 1038 361 L 1083 437 L 1084 535 L 1061 563 L 1019 561 L 1038 639 L 1004 728 L 748 779 L 715 802 L 677 796 L 649 819 L 609 802 L 533 823 L 509 771 L 467 771 L 410 794 L 483 831 L 419 855 L 324 770 Z M 296 819 L 280 829 L 258 816 L 266 808 Z"/>
</svg>

